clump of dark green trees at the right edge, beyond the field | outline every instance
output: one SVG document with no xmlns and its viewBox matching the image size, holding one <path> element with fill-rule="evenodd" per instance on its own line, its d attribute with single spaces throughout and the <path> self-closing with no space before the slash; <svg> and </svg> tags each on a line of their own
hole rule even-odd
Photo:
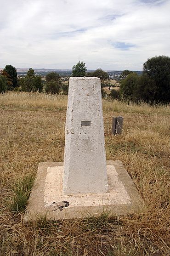
<svg viewBox="0 0 170 256">
<path fill-rule="evenodd" d="M 170 57 L 148 58 L 142 76 L 130 72 L 120 85 L 120 97 L 148 103 L 170 102 Z"/>
</svg>

